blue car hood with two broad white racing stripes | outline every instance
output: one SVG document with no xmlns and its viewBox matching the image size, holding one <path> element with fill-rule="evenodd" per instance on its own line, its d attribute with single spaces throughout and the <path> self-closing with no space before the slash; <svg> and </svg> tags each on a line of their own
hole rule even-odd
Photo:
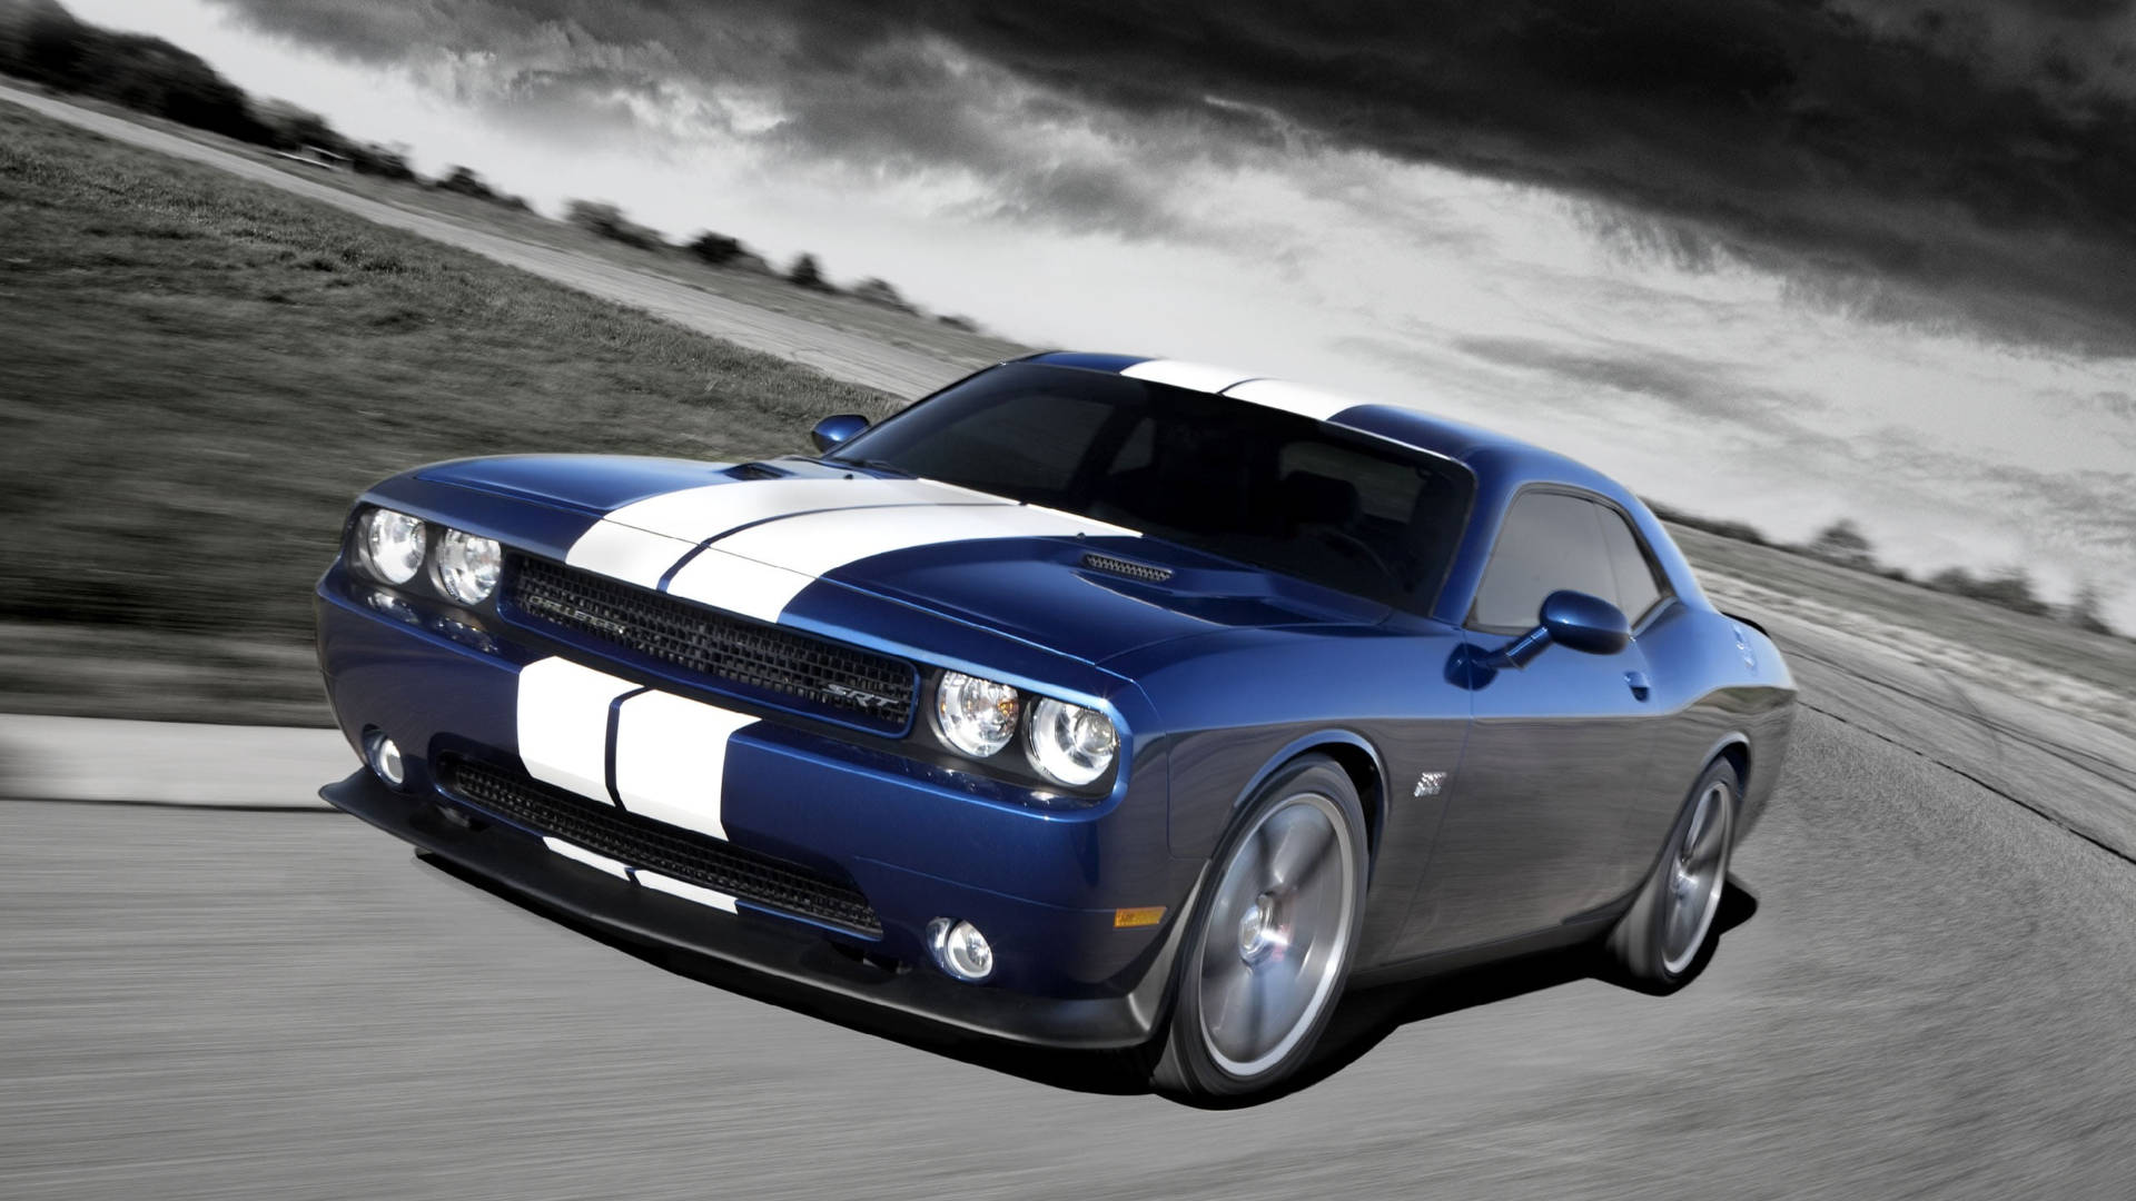
<svg viewBox="0 0 2136 1201">
<path fill-rule="evenodd" d="M 525 455 L 419 474 L 598 513 L 568 547 L 553 547 L 566 562 L 814 628 L 850 622 L 850 596 L 869 594 L 1102 662 L 1220 628 L 1386 615 L 1382 605 L 1104 521 L 814 459 Z"/>
</svg>

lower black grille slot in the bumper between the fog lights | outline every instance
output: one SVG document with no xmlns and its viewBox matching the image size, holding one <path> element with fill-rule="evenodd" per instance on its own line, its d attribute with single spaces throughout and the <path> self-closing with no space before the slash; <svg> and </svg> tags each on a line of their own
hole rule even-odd
<svg viewBox="0 0 2136 1201">
<path fill-rule="evenodd" d="M 487 763 L 444 759 L 442 778 L 446 791 L 470 806 L 596 855 L 869 938 L 882 936 L 882 919 L 865 895 L 799 863 L 590 801 Z"/>
</svg>

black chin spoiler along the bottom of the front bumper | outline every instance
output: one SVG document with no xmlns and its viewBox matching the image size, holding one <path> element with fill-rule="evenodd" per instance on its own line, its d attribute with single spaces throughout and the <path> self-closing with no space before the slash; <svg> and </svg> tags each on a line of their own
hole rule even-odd
<svg viewBox="0 0 2136 1201">
<path fill-rule="evenodd" d="M 839 951 L 818 932 L 769 915 L 716 913 L 553 855 L 534 836 L 502 823 L 481 829 L 446 821 L 436 799 L 387 789 L 367 769 L 318 791 L 331 806 L 496 880 L 553 910 L 630 940 L 737 964 L 810 989 L 884 1007 L 978 1034 L 1068 1049 L 1147 1043 L 1181 923 L 1173 923 L 1145 981 L 1117 998 L 1040 998 L 951 981 L 929 968 L 882 968 Z"/>
</svg>

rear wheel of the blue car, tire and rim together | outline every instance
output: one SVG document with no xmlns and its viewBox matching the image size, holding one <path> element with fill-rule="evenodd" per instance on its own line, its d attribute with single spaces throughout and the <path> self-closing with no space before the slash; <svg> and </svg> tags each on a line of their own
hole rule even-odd
<svg viewBox="0 0 2136 1201">
<path fill-rule="evenodd" d="M 1638 900 L 1604 940 L 1611 974 L 1619 983 L 1670 994 L 1707 968 L 1719 940 L 1717 917 L 1722 895 L 1728 891 L 1728 859 L 1734 851 L 1734 818 L 1741 804 L 1743 780 L 1734 765 L 1726 759 L 1709 763 L 1683 799 L 1683 812 L 1668 829 L 1668 842 L 1647 883 L 1640 885 Z M 1698 870 L 1690 872 L 1694 859 Z M 1707 872 L 1713 876 L 1711 883 Z M 1685 887 L 1687 876 L 1696 878 L 1694 887 Z M 1702 902 L 1698 915 L 1687 913 L 1690 900 Z"/>
</svg>

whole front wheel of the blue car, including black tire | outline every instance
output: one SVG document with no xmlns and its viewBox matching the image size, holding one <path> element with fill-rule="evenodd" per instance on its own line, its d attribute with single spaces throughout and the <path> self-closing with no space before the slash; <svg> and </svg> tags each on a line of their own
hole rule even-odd
<svg viewBox="0 0 2136 1201">
<path fill-rule="evenodd" d="M 1312 853 L 1312 868 L 1260 889 L 1271 878 L 1256 874 L 1258 868 L 1282 865 L 1286 853 L 1301 859 L 1303 851 L 1292 848 L 1307 838 L 1324 840 Z M 1271 840 L 1277 840 L 1273 848 Z M 1337 865 L 1339 883 L 1331 893 L 1329 872 Z M 1365 808 L 1350 776 L 1326 757 L 1307 754 L 1284 765 L 1239 808 L 1209 859 L 1173 966 L 1173 1013 L 1151 1073 L 1158 1092 L 1211 1098 L 1267 1092 L 1312 1058 L 1356 957 L 1367 868 Z M 1307 972 L 1312 981 L 1301 983 Z M 1243 1011 L 1237 998 L 1247 998 Z M 1303 1011 L 1286 1021 L 1299 998 L 1305 998 Z M 1211 1009 L 1218 1011 L 1213 1019 Z M 1265 1026 L 1273 1030 L 1267 1039 L 1256 1034 Z M 1245 1054 L 1241 1047 L 1262 1054 L 1232 1058 Z"/>
</svg>

